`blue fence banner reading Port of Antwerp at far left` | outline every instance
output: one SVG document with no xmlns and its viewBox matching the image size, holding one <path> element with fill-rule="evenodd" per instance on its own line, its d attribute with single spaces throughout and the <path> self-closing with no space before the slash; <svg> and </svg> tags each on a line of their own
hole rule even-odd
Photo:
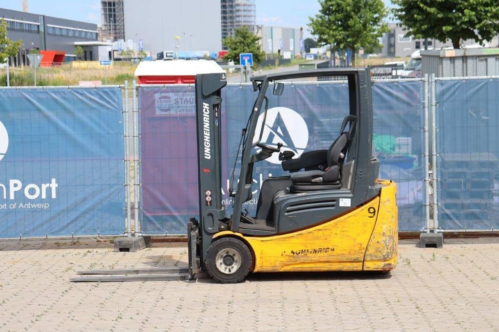
<svg viewBox="0 0 499 332">
<path fill-rule="evenodd" d="M 0 93 L 0 237 L 124 232 L 122 93 Z"/>
</svg>

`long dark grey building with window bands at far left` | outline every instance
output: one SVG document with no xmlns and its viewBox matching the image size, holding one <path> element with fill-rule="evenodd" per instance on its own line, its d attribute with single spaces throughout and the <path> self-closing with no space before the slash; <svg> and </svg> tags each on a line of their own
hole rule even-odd
<svg viewBox="0 0 499 332">
<path fill-rule="evenodd" d="M 76 45 L 83 48 L 83 60 L 97 59 L 97 24 L 3 8 L 0 17 L 7 22 L 8 38 L 22 40 L 17 56 L 9 59 L 11 66 L 27 65 L 32 49 L 63 51 L 64 61 L 74 60 Z"/>
</svg>

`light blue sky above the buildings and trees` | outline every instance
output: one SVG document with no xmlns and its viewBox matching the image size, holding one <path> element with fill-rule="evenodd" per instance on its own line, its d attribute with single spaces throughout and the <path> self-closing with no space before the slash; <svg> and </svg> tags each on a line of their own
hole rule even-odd
<svg viewBox="0 0 499 332">
<path fill-rule="evenodd" d="M 386 5 L 391 5 L 390 0 L 383 1 Z M 21 0 L 0 0 L 0 7 L 22 10 Z M 307 27 L 308 17 L 318 13 L 319 8 L 317 0 L 256 0 L 256 23 L 303 27 L 304 37 L 307 38 L 311 36 Z M 28 11 L 101 24 L 100 0 L 28 0 Z"/>
</svg>

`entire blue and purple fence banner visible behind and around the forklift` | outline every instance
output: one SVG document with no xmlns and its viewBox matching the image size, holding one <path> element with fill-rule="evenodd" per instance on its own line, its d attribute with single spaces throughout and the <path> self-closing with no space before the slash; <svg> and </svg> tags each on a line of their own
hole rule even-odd
<svg viewBox="0 0 499 332">
<path fill-rule="evenodd" d="M 380 177 L 398 184 L 399 228 L 406 231 L 424 228 L 421 86 L 419 81 L 373 86 L 373 143 L 381 161 Z M 228 85 L 222 90 L 222 194 L 227 215 L 232 213 L 230 172 L 255 97 L 250 85 Z M 144 233 L 186 233 L 189 218 L 199 218 L 194 98 L 193 86 L 140 86 Z M 181 99 L 187 106 L 180 104 Z M 286 84 L 282 96 L 269 96 L 262 142 L 283 143 L 297 156 L 327 149 L 339 135 L 348 110 L 346 84 Z M 253 198 L 243 206 L 252 215 L 262 181 L 288 174 L 274 155 L 254 166 Z M 236 176 L 240 166 L 238 161 Z"/>
</svg>

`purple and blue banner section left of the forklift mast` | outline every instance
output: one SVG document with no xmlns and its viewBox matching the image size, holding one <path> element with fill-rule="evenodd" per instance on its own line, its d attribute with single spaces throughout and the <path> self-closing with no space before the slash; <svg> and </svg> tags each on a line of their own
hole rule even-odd
<svg viewBox="0 0 499 332">
<path fill-rule="evenodd" d="M 198 215 L 194 86 L 140 86 L 142 222 L 145 234 L 185 233 Z"/>
</svg>

